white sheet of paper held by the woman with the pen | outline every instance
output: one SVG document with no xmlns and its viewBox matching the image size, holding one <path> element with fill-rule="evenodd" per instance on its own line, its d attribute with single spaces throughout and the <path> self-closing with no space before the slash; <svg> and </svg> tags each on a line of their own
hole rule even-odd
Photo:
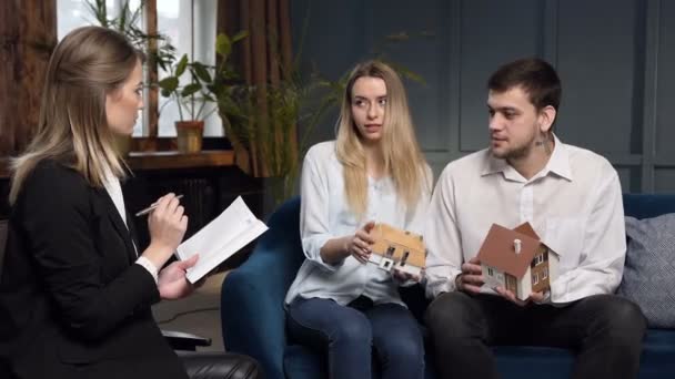
<svg viewBox="0 0 675 379">
<path fill-rule="evenodd" d="M 236 197 L 218 217 L 178 247 L 181 260 L 199 254 L 197 265 L 188 269 L 188 280 L 198 281 L 266 229 L 241 196 Z"/>
</svg>

